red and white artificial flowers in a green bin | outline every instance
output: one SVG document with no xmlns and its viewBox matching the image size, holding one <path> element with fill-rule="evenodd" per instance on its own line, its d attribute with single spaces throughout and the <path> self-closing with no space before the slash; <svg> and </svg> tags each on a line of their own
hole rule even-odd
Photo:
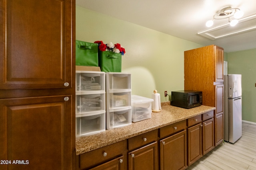
<svg viewBox="0 0 256 170">
<path fill-rule="evenodd" d="M 114 53 L 121 53 L 124 55 L 125 49 L 119 43 L 113 44 L 112 42 L 104 44 L 102 41 L 95 41 L 98 44 L 100 51 L 112 51 Z"/>
</svg>

